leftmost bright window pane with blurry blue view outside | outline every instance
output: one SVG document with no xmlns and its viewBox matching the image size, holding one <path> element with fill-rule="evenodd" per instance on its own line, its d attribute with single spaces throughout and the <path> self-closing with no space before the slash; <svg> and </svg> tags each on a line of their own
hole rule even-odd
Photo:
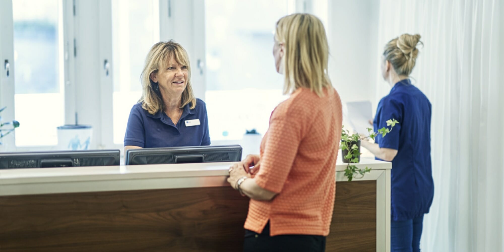
<svg viewBox="0 0 504 252">
<path fill-rule="evenodd" d="M 64 122 L 60 0 L 13 1 L 16 146 L 56 145 Z"/>
</svg>

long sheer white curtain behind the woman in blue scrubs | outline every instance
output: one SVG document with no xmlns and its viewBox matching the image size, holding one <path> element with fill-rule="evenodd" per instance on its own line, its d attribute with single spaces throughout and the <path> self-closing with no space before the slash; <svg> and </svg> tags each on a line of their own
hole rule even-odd
<svg viewBox="0 0 504 252">
<path fill-rule="evenodd" d="M 422 36 L 413 83 L 432 103 L 434 201 L 423 251 L 504 251 L 504 0 L 382 0 L 379 52 Z M 390 87 L 376 78 L 376 101 Z"/>
</svg>

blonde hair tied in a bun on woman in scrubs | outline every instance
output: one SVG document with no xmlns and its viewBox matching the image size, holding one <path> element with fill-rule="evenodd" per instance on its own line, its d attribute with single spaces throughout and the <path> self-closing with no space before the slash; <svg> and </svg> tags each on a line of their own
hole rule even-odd
<svg viewBox="0 0 504 252">
<path fill-rule="evenodd" d="M 416 64 L 420 34 L 402 34 L 385 45 L 383 56 L 388 60 L 398 75 L 409 76 Z"/>
</svg>

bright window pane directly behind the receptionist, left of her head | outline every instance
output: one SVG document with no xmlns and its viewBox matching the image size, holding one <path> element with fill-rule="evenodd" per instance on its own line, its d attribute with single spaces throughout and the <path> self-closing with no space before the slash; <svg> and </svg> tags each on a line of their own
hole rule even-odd
<svg viewBox="0 0 504 252">
<path fill-rule="evenodd" d="M 140 74 L 159 42 L 159 1 L 112 0 L 114 144 L 124 143 L 130 110 L 142 95 Z"/>
</svg>

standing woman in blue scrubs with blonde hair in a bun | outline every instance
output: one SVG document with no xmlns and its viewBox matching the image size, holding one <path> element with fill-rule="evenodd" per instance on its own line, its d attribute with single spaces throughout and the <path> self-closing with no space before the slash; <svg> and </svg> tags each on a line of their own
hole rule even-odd
<svg viewBox="0 0 504 252">
<path fill-rule="evenodd" d="M 392 161 L 391 251 L 420 251 L 423 215 L 434 196 L 430 161 L 431 105 L 411 84 L 409 75 L 418 55 L 420 35 L 403 34 L 383 53 L 383 78 L 392 86 L 382 98 L 373 120 L 374 131 L 397 119 L 394 129 L 375 143 L 362 142 L 377 159 Z"/>
</svg>

